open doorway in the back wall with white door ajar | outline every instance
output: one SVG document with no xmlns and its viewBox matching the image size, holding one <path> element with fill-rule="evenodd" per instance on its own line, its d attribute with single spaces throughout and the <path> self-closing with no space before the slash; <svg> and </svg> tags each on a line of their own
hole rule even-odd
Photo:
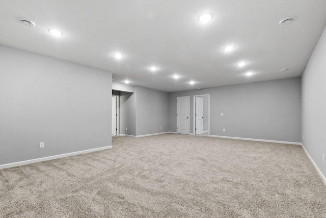
<svg viewBox="0 0 326 218">
<path fill-rule="evenodd" d="M 194 95 L 194 134 L 209 136 L 209 94 Z"/>
</svg>

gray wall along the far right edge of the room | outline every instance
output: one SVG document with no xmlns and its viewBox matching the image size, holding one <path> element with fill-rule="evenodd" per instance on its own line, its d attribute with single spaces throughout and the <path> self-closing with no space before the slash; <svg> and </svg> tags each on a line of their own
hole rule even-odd
<svg viewBox="0 0 326 218">
<path fill-rule="evenodd" d="M 326 176 L 326 29 L 302 76 L 302 140 L 307 152 Z"/>
</svg>

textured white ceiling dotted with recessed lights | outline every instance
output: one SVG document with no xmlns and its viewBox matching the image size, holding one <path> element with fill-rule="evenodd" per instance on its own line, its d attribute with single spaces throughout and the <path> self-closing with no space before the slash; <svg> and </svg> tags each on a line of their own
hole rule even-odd
<svg viewBox="0 0 326 218">
<path fill-rule="evenodd" d="M 213 14 L 205 24 L 204 12 Z M 279 25 L 292 15 L 293 23 Z M 0 1 L 0 44 L 167 92 L 300 77 L 325 25 L 325 0 Z M 235 49 L 224 51 L 230 44 Z"/>
</svg>

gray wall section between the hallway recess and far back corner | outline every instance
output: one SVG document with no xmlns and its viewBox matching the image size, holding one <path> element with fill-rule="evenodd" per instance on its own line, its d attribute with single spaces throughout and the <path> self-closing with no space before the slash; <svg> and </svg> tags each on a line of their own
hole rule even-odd
<svg viewBox="0 0 326 218">
<path fill-rule="evenodd" d="M 169 94 L 163 91 L 135 87 L 136 135 L 168 131 Z M 162 127 L 162 129 L 160 129 Z"/>
</svg>

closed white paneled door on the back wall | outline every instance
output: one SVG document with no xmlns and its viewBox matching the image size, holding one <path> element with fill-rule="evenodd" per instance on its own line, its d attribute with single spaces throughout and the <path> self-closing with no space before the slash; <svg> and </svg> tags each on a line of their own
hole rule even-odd
<svg viewBox="0 0 326 218">
<path fill-rule="evenodd" d="M 189 134 L 190 97 L 177 97 L 177 133 Z"/>
</svg>

